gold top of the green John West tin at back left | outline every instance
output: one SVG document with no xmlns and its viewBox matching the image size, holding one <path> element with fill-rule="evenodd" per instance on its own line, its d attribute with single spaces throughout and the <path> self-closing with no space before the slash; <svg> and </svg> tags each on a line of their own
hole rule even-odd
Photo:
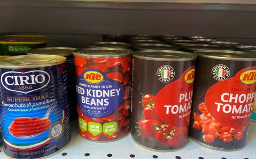
<svg viewBox="0 0 256 159">
<path fill-rule="evenodd" d="M 4 35 L 0 36 L 0 43 L 4 44 L 40 44 L 46 43 L 47 36 L 39 35 Z"/>
</svg>

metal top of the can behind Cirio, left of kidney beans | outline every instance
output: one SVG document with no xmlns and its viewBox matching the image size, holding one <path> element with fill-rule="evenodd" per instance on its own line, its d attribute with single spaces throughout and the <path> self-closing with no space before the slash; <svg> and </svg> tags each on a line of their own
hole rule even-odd
<svg viewBox="0 0 256 159">
<path fill-rule="evenodd" d="M 70 47 L 46 47 L 46 48 L 36 48 L 27 51 L 28 55 L 58 55 L 58 56 L 71 56 L 73 55 L 73 51 L 77 48 L 70 48 Z M 40 51 L 51 51 L 51 50 L 70 50 L 70 53 L 56 53 L 56 54 L 47 54 L 47 53 L 40 53 Z M 37 52 L 39 51 L 39 52 Z"/>
</svg>

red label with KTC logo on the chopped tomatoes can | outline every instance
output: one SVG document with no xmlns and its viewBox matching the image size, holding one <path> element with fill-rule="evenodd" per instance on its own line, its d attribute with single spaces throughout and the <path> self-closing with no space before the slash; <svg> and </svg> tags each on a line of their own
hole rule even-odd
<svg viewBox="0 0 256 159">
<path fill-rule="evenodd" d="M 256 96 L 255 72 L 256 67 L 245 68 L 208 89 L 206 107 L 222 127 L 242 128 L 249 124 Z"/>
</svg>

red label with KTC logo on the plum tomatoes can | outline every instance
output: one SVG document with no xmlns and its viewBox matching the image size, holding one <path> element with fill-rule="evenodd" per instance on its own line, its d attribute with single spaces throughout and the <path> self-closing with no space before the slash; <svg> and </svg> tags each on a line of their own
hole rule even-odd
<svg viewBox="0 0 256 159">
<path fill-rule="evenodd" d="M 155 110 L 164 123 L 187 126 L 192 105 L 194 66 L 186 69 L 180 79 L 163 87 L 155 98 Z"/>
</svg>

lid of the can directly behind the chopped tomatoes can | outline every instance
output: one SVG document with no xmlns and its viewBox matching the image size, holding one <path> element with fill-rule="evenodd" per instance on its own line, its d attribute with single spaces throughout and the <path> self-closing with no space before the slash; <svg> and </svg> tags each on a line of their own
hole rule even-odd
<svg viewBox="0 0 256 159">
<path fill-rule="evenodd" d="M 228 50 L 229 47 L 224 45 L 213 45 L 213 44 L 188 44 L 183 45 L 182 48 L 188 51 L 198 51 L 198 50 Z"/>
</svg>

